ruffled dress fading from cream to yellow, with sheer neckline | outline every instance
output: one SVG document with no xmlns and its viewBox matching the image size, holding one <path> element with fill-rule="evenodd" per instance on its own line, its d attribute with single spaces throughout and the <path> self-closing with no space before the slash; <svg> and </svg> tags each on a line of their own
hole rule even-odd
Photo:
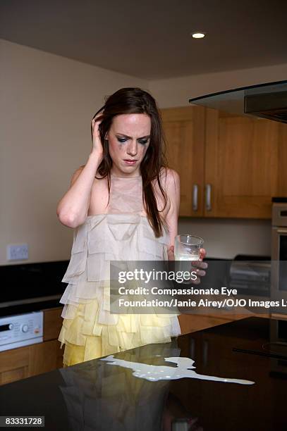
<svg viewBox="0 0 287 431">
<path fill-rule="evenodd" d="M 156 238 L 142 203 L 142 177 L 111 175 L 106 213 L 89 215 L 74 231 L 71 261 L 60 299 L 65 344 L 63 363 L 90 361 L 152 343 L 171 342 L 181 333 L 172 314 L 110 313 L 110 261 L 167 260 L 169 233 Z"/>
</svg>

